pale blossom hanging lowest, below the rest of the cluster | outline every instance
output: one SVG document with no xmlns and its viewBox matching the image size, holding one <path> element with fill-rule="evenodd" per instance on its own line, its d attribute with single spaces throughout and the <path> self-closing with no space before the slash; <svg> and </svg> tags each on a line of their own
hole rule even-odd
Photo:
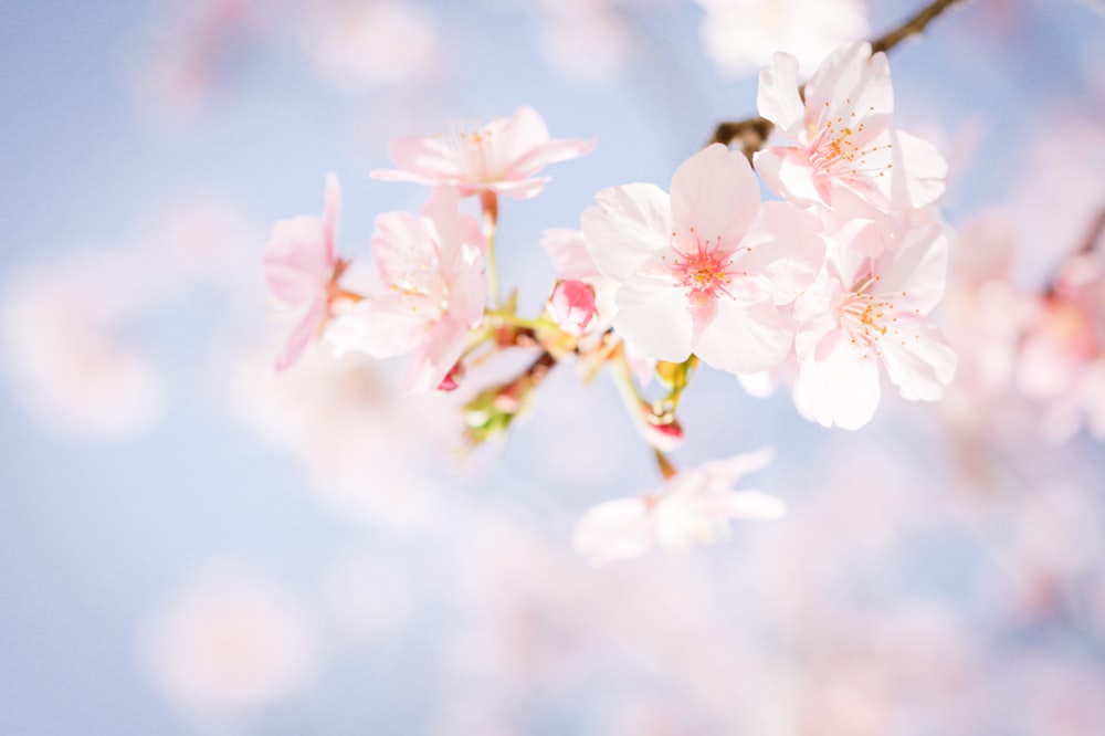
<svg viewBox="0 0 1105 736">
<path fill-rule="evenodd" d="M 759 491 L 733 491 L 771 455 L 764 449 L 708 462 L 676 473 L 654 493 L 601 503 L 576 524 L 576 550 L 598 565 L 639 557 L 657 544 L 673 550 L 712 544 L 728 533 L 730 518 L 781 518 L 787 509 L 782 501 Z"/>
</svg>

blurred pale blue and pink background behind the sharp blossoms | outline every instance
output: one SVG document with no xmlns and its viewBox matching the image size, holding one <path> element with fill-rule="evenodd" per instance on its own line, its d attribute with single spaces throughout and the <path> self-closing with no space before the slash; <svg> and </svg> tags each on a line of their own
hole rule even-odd
<svg viewBox="0 0 1105 736">
<path fill-rule="evenodd" d="M 771 52 L 809 74 L 919 4 L 4 3 L 0 733 L 1105 733 L 1105 281 L 1054 288 L 1105 250 L 1099 1 L 975 0 L 892 52 L 895 125 L 951 166 L 959 375 L 848 432 L 701 371 L 675 462 L 774 446 L 745 485 L 781 522 L 593 568 L 576 519 L 659 484 L 604 377 L 460 460 L 401 360 L 272 371 L 261 253 L 327 172 L 364 257 L 427 196 L 368 177 L 390 137 L 522 105 L 596 136 L 502 206 L 534 313 L 544 230 L 666 188 Z"/>
</svg>

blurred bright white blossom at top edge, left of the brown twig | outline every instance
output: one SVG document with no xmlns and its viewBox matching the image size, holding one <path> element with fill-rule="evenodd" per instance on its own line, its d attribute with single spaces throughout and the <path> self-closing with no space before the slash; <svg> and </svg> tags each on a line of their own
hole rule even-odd
<svg viewBox="0 0 1105 736">
<path fill-rule="evenodd" d="M 838 44 L 870 33 L 862 0 L 695 0 L 706 11 L 702 40 L 727 74 L 753 72 L 771 54 L 793 54 L 810 70 Z"/>
</svg>

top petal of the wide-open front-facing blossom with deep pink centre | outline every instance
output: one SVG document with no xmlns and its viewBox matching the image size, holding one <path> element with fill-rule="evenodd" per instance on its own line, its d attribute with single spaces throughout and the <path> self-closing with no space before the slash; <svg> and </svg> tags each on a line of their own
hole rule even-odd
<svg viewBox="0 0 1105 736">
<path fill-rule="evenodd" d="M 672 177 L 673 229 L 703 241 L 735 242 L 759 208 L 759 185 L 748 159 L 713 144 L 684 161 Z"/>
</svg>

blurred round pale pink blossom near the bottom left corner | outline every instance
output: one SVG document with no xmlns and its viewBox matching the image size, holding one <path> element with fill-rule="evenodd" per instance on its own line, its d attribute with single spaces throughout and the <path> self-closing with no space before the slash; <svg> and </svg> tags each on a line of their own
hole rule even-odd
<svg viewBox="0 0 1105 736">
<path fill-rule="evenodd" d="M 198 715 L 272 705 L 305 690 L 317 651 L 296 603 L 242 574 L 201 579 L 150 622 L 139 655 L 152 685 Z"/>
</svg>

